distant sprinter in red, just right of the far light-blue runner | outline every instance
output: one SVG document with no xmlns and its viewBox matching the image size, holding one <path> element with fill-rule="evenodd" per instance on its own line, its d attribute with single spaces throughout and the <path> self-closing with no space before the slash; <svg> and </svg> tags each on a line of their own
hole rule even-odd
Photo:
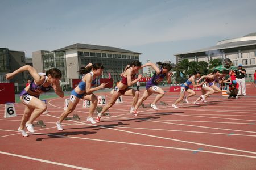
<svg viewBox="0 0 256 170">
<path fill-rule="evenodd" d="M 220 73 L 217 69 L 214 69 L 211 74 L 201 76 L 197 82 L 200 82 L 201 79 L 205 79 L 206 82 L 209 83 L 209 87 L 214 90 L 215 93 L 221 92 L 220 88 L 218 88 L 216 85 L 214 85 L 214 82 L 219 82 L 218 76 L 220 76 Z M 201 99 L 203 102 L 205 101 L 205 98 L 208 97 L 210 94 L 213 94 L 213 91 L 208 91 L 206 94 L 201 95 Z"/>
</svg>

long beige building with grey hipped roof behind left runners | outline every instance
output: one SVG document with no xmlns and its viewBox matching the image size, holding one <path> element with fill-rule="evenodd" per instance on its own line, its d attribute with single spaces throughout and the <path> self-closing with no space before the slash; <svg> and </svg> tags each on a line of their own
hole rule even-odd
<svg viewBox="0 0 256 170">
<path fill-rule="evenodd" d="M 90 45 L 73 44 L 55 51 L 37 51 L 32 53 L 33 65 L 38 71 L 46 71 L 52 67 L 57 67 L 63 73 L 63 82 L 69 82 L 70 79 L 81 78 L 79 69 L 85 67 L 88 63 L 102 63 L 104 73 L 102 77 L 112 75 L 114 82 L 120 79 L 119 74 L 123 69 L 134 60 L 139 61 L 141 53 L 130 50 Z"/>
</svg>

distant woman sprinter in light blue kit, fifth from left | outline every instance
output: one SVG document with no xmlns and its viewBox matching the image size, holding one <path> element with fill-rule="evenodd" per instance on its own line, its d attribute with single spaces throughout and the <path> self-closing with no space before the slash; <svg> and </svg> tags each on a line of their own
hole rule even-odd
<svg viewBox="0 0 256 170">
<path fill-rule="evenodd" d="M 179 103 L 181 100 L 184 99 L 185 91 L 189 92 L 189 95 L 187 96 L 187 99 L 188 99 L 189 97 L 191 97 L 191 96 L 194 96 L 194 95 L 196 94 L 195 91 L 193 91 L 191 88 L 189 88 L 189 85 L 190 85 L 190 84 L 193 84 L 193 87 L 194 87 L 194 88 L 203 85 L 203 83 L 200 83 L 200 84 L 196 84 L 196 83 L 195 83 L 195 80 L 196 80 L 197 78 L 199 78 L 199 77 L 200 77 L 200 72 L 199 72 L 199 71 L 194 71 L 193 76 L 189 77 L 189 79 L 188 79 L 185 83 L 183 83 L 183 84 L 181 85 L 181 88 L 180 88 L 180 97 L 179 97 L 179 99 L 177 99 L 177 100 L 175 101 L 174 104 L 172 104 L 172 107 L 173 107 L 173 108 L 179 108 L 179 107 L 176 106 L 176 104 Z"/>
</svg>

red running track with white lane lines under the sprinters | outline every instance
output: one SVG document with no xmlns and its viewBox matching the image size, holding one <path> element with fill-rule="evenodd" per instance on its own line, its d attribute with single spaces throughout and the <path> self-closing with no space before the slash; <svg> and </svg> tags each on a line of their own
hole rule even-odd
<svg viewBox="0 0 256 170">
<path fill-rule="evenodd" d="M 168 90 L 166 86 L 165 90 Z M 48 113 L 42 114 L 46 128 L 22 137 L 17 129 L 24 111 L 15 104 L 18 117 L 3 118 L 0 107 L 1 169 L 255 169 L 256 167 L 256 88 L 247 86 L 248 96 L 227 99 L 214 94 L 208 103 L 171 104 L 178 92 L 166 92 L 160 100 L 169 105 L 140 108 L 130 114 L 131 97 L 109 109 L 110 116 L 92 125 L 86 122 L 88 108 L 82 101 L 71 113 L 81 120 L 64 121 L 57 131 L 56 121 L 63 112 L 64 99 L 47 100 Z M 141 90 L 142 96 L 143 90 Z M 110 99 L 109 92 L 105 95 Z M 154 100 L 150 96 L 145 105 Z M 97 114 L 94 114 L 96 117 Z"/>
</svg>

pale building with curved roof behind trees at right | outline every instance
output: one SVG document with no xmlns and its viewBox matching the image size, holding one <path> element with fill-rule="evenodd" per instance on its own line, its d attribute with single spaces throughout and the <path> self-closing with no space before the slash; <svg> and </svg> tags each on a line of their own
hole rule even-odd
<svg viewBox="0 0 256 170">
<path fill-rule="evenodd" d="M 211 59 L 229 58 L 235 67 L 238 67 L 240 63 L 243 65 L 243 68 L 246 69 L 245 79 L 251 81 L 256 70 L 256 33 L 250 33 L 235 39 L 222 40 L 209 48 L 174 55 L 176 56 L 176 63 L 179 63 L 182 59 L 188 59 L 189 62 L 206 61 L 209 63 Z"/>
</svg>

